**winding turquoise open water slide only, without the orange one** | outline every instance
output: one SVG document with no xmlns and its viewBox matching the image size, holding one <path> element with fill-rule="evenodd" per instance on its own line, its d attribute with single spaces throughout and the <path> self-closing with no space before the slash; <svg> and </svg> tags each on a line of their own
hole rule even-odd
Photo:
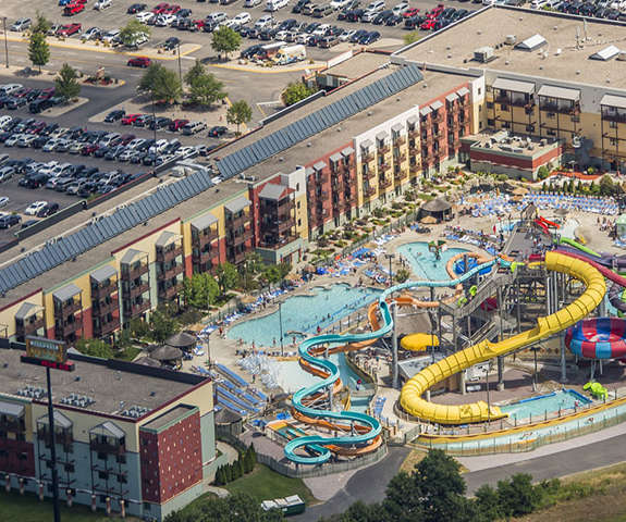
<svg viewBox="0 0 626 522">
<path fill-rule="evenodd" d="M 481 271 L 484 271 L 484 269 L 491 268 L 496 263 L 503 266 L 510 266 L 507 261 L 504 261 L 501 258 L 494 258 L 490 261 L 487 261 L 486 263 L 475 266 L 456 279 L 406 282 L 384 290 L 378 300 L 378 307 L 382 316 L 381 327 L 376 332 L 344 335 L 323 334 L 304 340 L 298 347 L 299 357 L 309 364 L 321 369 L 326 373 L 330 373 L 330 375 L 312 386 L 297 390 L 292 397 L 293 407 L 303 415 L 311 419 L 326 419 L 333 424 L 344 426 L 356 424 L 367 427 L 368 431 L 365 433 L 357 433 L 354 431 L 353 433 L 345 434 L 340 437 L 322 437 L 320 435 L 307 435 L 304 437 L 298 437 L 290 440 L 285 445 L 284 452 L 286 458 L 299 464 L 321 464 L 329 460 L 331 457 L 331 450 L 327 446 L 345 446 L 351 448 L 367 446 L 368 444 L 371 444 L 373 439 L 380 435 L 381 432 L 380 422 L 365 413 L 358 413 L 355 411 L 320 410 L 305 406 L 303 403 L 306 397 L 324 393 L 328 389 L 331 389 L 333 383 L 340 377 L 340 372 L 336 364 L 329 360 L 311 356 L 309 353 L 311 348 L 326 344 L 347 345 L 352 343 L 378 339 L 389 334 L 393 328 L 393 320 L 389 303 L 386 302 L 386 299 L 392 294 L 410 288 L 444 288 L 456 286 L 459 283 L 464 283 L 465 281 L 470 279 Z M 298 449 L 304 449 L 307 455 L 297 453 L 296 451 Z"/>
</svg>

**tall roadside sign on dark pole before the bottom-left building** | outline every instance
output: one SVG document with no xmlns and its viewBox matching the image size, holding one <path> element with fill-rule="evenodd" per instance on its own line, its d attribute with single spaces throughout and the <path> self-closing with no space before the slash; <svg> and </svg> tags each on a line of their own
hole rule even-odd
<svg viewBox="0 0 626 522">
<path fill-rule="evenodd" d="M 46 368 L 46 380 L 48 384 L 48 430 L 50 431 L 50 459 L 52 460 L 52 501 L 54 506 L 54 522 L 61 522 L 59 474 L 57 472 L 57 443 L 54 440 L 54 407 L 52 406 L 50 369 L 73 372 L 75 366 L 72 361 L 67 362 L 67 347 L 64 341 L 32 335 L 26 337 L 26 355 L 22 356 L 21 359 L 25 364 Z"/>
</svg>

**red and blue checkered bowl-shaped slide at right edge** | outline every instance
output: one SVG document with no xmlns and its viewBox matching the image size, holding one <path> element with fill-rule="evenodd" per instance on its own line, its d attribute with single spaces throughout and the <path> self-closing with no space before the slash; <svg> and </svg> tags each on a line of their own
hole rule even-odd
<svg viewBox="0 0 626 522">
<path fill-rule="evenodd" d="M 625 337 L 626 319 L 586 319 L 567 328 L 565 346 L 588 359 L 622 359 L 626 357 Z"/>
</svg>

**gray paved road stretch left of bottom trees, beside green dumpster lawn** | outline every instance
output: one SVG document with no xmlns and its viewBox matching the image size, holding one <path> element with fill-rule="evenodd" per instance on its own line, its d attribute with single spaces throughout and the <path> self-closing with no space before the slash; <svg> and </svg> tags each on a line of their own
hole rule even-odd
<svg viewBox="0 0 626 522">
<path fill-rule="evenodd" d="M 355 473 L 331 500 L 307 509 L 304 514 L 294 517 L 293 520 L 314 522 L 321 517 L 341 513 L 357 500 L 379 502 L 384 498 L 388 482 L 397 473 L 408 452 L 408 448 L 389 448 L 389 455 L 382 461 Z"/>
</svg>

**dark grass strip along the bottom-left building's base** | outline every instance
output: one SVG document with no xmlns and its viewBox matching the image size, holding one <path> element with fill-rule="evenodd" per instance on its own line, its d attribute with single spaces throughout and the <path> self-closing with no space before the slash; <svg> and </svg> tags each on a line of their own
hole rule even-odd
<svg viewBox="0 0 626 522">
<path fill-rule="evenodd" d="M 52 502 L 39 501 L 34 495 L 21 496 L 15 493 L 0 492 L 0 520 L 19 522 L 52 522 Z M 88 507 L 74 505 L 72 509 L 61 507 L 61 520 L 63 522 L 110 522 L 123 520 L 119 517 L 107 517 L 103 511 L 91 513 Z M 137 521 L 134 517 L 127 517 L 127 521 Z"/>
</svg>

